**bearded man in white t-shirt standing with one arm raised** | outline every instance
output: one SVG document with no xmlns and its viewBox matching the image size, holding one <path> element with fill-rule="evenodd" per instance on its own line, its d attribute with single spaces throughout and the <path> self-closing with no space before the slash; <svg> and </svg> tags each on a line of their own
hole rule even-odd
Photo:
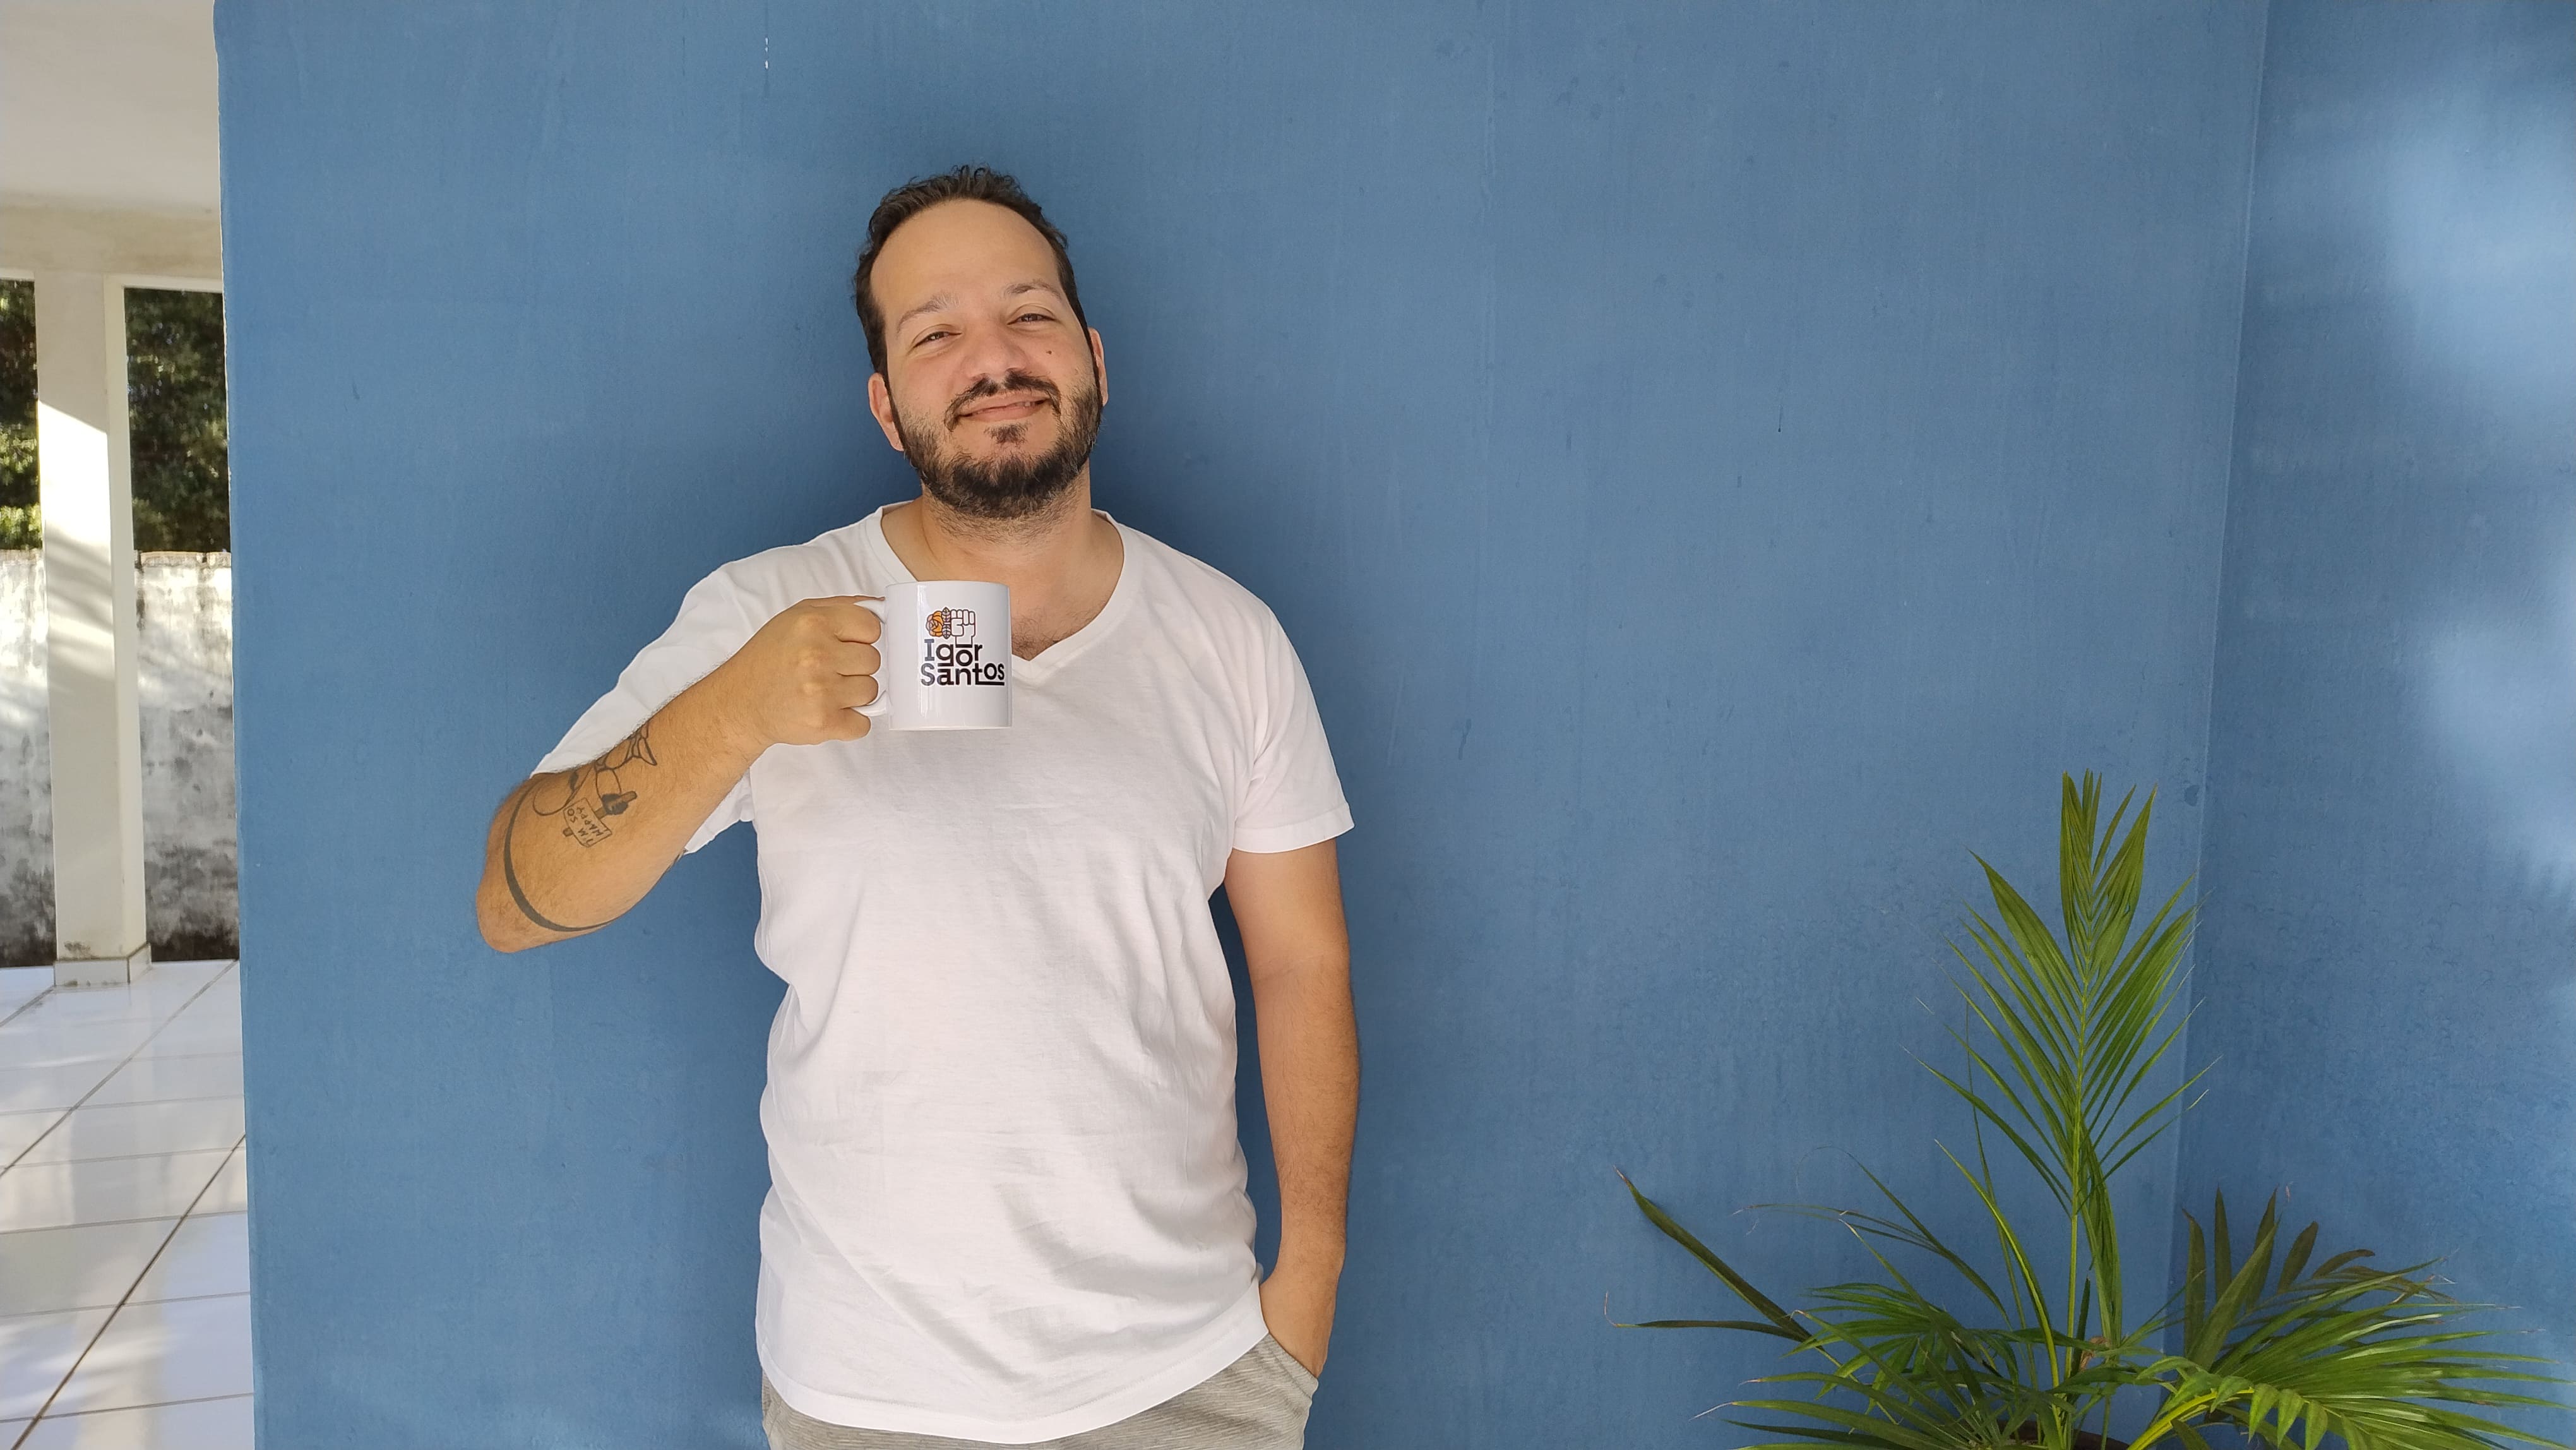
<svg viewBox="0 0 2576 1450">
<path fill-rule="evenodd" d="M 760 1100 L 775 1447 L 1303 1445 L 1360 1077 L 1350 809 L 1306 675 L 1260 600 L 1092 510 L 1108 366 L 1018 183 L 891 191 L 855 291 L 868 410 L 922 494 L 698 582 L 492 816 L 482 932 L 592 932 L 755 822 L 755 948 L 788 984 Z M 1010 587 L 1010 729 L 868 737 L 855 600 L 904 579 Z"/>
</svg>

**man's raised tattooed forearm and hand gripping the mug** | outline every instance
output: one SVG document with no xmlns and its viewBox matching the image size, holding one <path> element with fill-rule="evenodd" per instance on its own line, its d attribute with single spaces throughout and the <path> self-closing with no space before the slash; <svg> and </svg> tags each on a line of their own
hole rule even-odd
<svg viewBox="0 0 2576 1450">
<path fill-rule="evenodd" d="M 623 917 L 762 749 L 868 734 L 876 662 L 866 608 L 788 605 L 608 755 L 520 783 L 484 834 L 484 940 L 523 950 Z"/>
</svg>

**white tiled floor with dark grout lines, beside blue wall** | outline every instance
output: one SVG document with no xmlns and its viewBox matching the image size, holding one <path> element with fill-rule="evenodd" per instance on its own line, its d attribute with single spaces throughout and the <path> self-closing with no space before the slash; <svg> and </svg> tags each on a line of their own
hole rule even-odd
<svg viewBox="0 0 2576 1450">
<path fill-rule="evenodd" d="M 242 994 L 0 971 L 0 1450 L 250 1450 Z"/>
</svg>

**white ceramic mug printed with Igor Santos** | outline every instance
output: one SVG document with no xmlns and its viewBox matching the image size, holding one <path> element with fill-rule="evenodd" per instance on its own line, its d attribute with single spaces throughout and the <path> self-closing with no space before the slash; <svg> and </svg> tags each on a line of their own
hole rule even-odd
<svg viewBox="0 0 2576 1450">
<path fill-rule="evenodd" d="M 1010 724 L 1010 587 L 976 579 L 889 585 L 876 610 L 876 729 L 997 729 Z"/>
</svg>

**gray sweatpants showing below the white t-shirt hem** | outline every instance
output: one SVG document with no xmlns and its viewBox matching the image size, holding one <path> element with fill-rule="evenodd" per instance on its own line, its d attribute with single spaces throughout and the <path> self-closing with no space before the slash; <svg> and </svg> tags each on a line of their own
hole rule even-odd
<svg viewBox="0 0 2576 1450">
<path fill-rule="evenodd" d="M 1239 1360 L 1193 1388 L 1139 1409 L 1118 1424 L 1046 1440 L 1030 1450 L 1303 1450 L 1306 1409 L 1314 1404 L 1314 1375 L 1278 1339 L 1244 1350 Z M 796 1414 L 778 1398 L 768 1375 L 760 1378 L 760 1427 L 770 1450 L 969 1450 L 984 1440 L 904 1435 L 899 1429 L 853 1429 Z"/>
</svg>

